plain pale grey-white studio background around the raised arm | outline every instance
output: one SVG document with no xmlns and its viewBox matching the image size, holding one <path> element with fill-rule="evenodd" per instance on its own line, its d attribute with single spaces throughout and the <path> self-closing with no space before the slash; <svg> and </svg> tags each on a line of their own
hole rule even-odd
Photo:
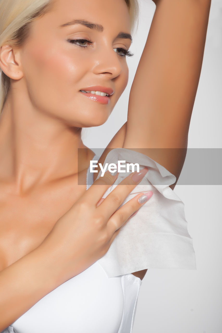
<svg viewBox="0 0 222 333">
<path fill-rule="evenodd" d="M 135 55 L 127 60 L 128 86 L 104 125 L 83 130 L 84 144 L 95 153 L 96 148 L 107 146 L 127 120 L 126 101 L 154 11 L 151 0 L 140 0 L 140 23 L 131 47 Z M 212 0 L 188 148 L 222 148 L 221 126 L 222 1 Z M 174 191 L 185 204 L 197 270 L 148 269 L 133 333 L 222 333 L 222 186 L 176 185 Z"/>
</svg>

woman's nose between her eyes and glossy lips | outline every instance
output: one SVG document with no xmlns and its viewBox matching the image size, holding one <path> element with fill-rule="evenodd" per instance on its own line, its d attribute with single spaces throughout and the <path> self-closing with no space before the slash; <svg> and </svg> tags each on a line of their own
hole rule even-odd
<svg viewBox="0 0 222 333">
<path fill-rule="evenodd" d="M 113 79 L 122 72 L 121 56 L 111 47 L 100 46 L 94 53 L 93 73 L 106 74 Z M 122 60 L 123 61 L 123 60 Z"/>
</svg>

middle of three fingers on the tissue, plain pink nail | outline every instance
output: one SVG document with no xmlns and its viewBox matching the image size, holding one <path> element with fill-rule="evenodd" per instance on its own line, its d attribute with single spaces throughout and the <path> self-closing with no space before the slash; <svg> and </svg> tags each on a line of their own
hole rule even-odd
<svg viewBox="0 0 222 333">
<path fill-rule="evenodd" d="M 147 173 L 148 168 L 143 168 L 139 173 L 132 172 L 124 178 L 100 204 L 100 213 L 108 219 L 116 209 L 123 203 L 129 193 L 138 185 L 142 178 Z M 136 177 L 135 177 L 136 176 Z M 134 183 L 134 184 L 133 184 Z"/>
</svg>

